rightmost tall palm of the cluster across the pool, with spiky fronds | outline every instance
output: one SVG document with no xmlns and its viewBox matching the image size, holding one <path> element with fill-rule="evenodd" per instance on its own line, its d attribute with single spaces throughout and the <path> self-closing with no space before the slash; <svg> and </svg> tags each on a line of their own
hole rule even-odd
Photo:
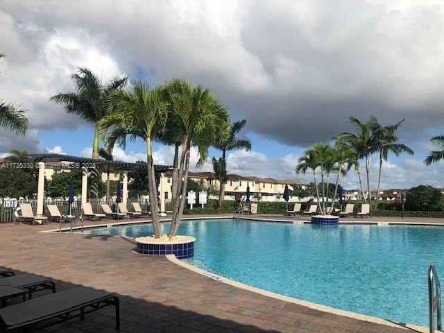
<svg viewBox="0 0 444 333">
<path fill-rule="evenodd" d="M 398 144 L 398 137 L 396 136 L 396 130 L 400 128 L 405 119 L 402 119 L 398 123 L 388 126 L 381 126 L 377 119 L 373 116 L 370 117 L 368 121 L 370 123 L 370 128 L 375 137 L 375 144 L 379 150 L 379 174 L 377 178 L 377 190 L 376 190 L 376 203 L 375 209 L 377 209 L 377 204 L 379 202 L 379 187 L 381 184 L 381 173 L 382 173 L 382 162 L 388 160 L 388 153 L 392 152 L 396 156 L 402 153 L 408 153 L 413 155 L 411 148 L 405 144 Z"/>
</svg>

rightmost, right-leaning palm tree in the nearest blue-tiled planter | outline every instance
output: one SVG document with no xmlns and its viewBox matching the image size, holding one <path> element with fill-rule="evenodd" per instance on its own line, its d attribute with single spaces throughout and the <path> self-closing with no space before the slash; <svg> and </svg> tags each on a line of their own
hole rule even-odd
<svg viewBox="0 0 444 333">
<path fill-rule="evenodd" d="M 182 79 L 171 81 L 171 85 L 175 92 L 171 99 L 174 104 L 173 117 L 178 119 L 178 130 L 182 133 L 182 152 L 178 161 L 178 187 L 173 200 L 170 238 L 178 232 L 185 207 L 191 146 L 198 148 L 200 165 L 207 159 L 208 148 L 225 141 L 230 134 L 230 114 L 217 101 L 211 89 L 200 85 L 193 87 Z"/>
</svg>

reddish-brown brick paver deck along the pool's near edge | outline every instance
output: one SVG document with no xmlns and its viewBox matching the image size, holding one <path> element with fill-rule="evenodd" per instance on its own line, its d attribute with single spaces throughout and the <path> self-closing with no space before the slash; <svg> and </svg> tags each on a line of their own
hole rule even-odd
<svg viewBox="0 0 444 333">
<path fill-rule="evenodd" d="M 85 286 L 117 294 L 123 333 L 414 332 L 239 289 L 166 257 L 137 255 L 134 244 L 119 237 L 37 232 L 49 228 L 58 225 L 0 225 L 0 266 L 51 278 L 59 291 Z M 112 312 L 103 309 L 40 332 L 117 332 Z"/>
</svg>

